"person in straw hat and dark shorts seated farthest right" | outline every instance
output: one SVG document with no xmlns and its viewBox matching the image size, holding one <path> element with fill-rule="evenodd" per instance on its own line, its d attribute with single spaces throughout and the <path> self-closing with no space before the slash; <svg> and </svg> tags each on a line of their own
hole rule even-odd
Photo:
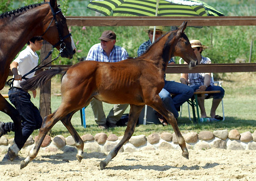
<svg viewBox="0 0 256 181">
<path fill-rule="evenodd" d="M 202 45 L 199 40 L 191 40 L 191 47 L 193 48 L 195 55 L 198 59 L 198 64 L 209 64 L 211 60 L 208 57 L 201 55 L 202 51 L 207 49 L 207 46 Z M 180 82 L 189 85 L 194 91 L 221 91 L 220 93 L 211 93 L 207 96 L 213 97 L 212 108 L 210 112 L 211 119 L 207 118 L 207 114 L 204 107 L 204 96 L 198 97 L 198 105 L 201 110 L 201 122 L 209 122 L 210 120 L 219 121 L 223 118 L 215 114 L 221 99 L 224 97 L 224 89 L 220 86 L 215 86 L 211 79 L 211 73 L 192 73 L 192 74 L 181 74 Z M 207 99 L 206 98 L 206 99 Z"/>
</svg>

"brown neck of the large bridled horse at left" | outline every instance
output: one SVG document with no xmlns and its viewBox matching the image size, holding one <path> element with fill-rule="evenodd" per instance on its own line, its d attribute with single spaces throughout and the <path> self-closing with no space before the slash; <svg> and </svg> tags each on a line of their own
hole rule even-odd
<svg viewBox="0 0 256 181">
<path fill-rule="evenodd" d="M 5 66 L 9 67 L 15 56 L 32 37 L 43 34 L 43 30 L 38 31 L 38 29 L 41 28 L 44 17 L 49 13 L 49 11 L 41 11 L 45 6 L 47 5 L 31 8 L 21 14 L 12 15 L 1 20 L 1 66 L 4 61 Z"/>
</svg>

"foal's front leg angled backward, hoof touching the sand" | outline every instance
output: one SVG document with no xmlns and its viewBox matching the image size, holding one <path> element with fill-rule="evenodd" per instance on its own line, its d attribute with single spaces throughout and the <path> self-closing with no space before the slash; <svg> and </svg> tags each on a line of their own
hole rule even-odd
<svg viewBox="0 0 256 181">
<path fill-rule="evenodd" d="M 105 160 L 100 162 L 99 166 L 101 170 L 103 170 L 108 165 L 108 163 L 116 156 L 116 154 L 118 153 L 122 145 L 125 144 L 134 133 L 136 123 L 138 121 L 140 112 L 143 109 L 144 105 L 140 105 L 140 106 L 130 105 L 130 106 L 131 106 L 131 109 L 129 113 L 128 124 L 125 130 L 125 135 L 123 136 L 122 140 L 116 145 L 116 147 L 114 147 L 113 150 L 110 151 L 110 153 L 105 158 Z"/>
</svg>

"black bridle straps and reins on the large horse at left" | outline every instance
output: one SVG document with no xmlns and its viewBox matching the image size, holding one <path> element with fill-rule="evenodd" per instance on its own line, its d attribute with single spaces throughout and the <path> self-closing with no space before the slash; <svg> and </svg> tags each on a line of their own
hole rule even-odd
<svg viewBox="0 0 256 181">
<path fill-rule="evenodd" d="M 56 14 L 58 14 L 59 12 L 61 12 L 61 9 L 59 8 L 59 11 L 54 12 L 54 9 L 52 8 L 52 6 L 50 5 L 49 2 L 48 2 L 48 4 L 49 4 L 49 6 L 50 6 L 50 8 L 51 8 L 52 16 L 53 16 L 53 17 L 52 17 L 52 20 L 51 20 L 49 26 L 47 27 L 47 29 L 44 31 L 44 33 L 43 33 L 41 36 L 43 36 L 43 35 L 48 31 L 48 29 L 49 29 L 49 27 L 50 27 L 50 25 L 52 24 L 52 21 L 53 21 L 53 19 L 54 19 L 54 20 L 55 20 L 55 25 L 56 25 L 57 30 L 58 30 L 58 35 L 59 35 L 60 40 L 59 40 L 55 45 L 52 46 L 52 50 L 49 51 L 49 53 L 48 53 L 47 56 L 41 61 L 41 63 L 43 63 L 43 62 L 52 54 L 52 51 L 54 50 L 54 48 L 55 48 L 58 44 L 60 44 L 60 52 L 59 52 L 58 56 L 57 56 L 55 59 L 51 60 L 50 62 L 47 62 L 46 64 L 42 65 L 41 67 L 39 67 L 39 65 L 35 66 L 35 68 L 33 68 L 31 71 L 29 71 L 28 73 L 26 73 L 25 75 L 23 75 L 21 79 L 25 79 L 25 80 L 26 80 L 26 79 L 29 79 L 29 78 L 26 78 L 27 75 L 31 74 L 32 72 L 38 71 L 39 69 L 45 67 L 46 65 L 48 65 L 48 64 L 50 64 L 51 62 L 53 62 L 53 61 L 55 61 L 56 59 L 58 59 L 58 57 L 60 57 L 60 55 L 61 55 L 61 52 L 66 48 L 66 44 L 63 42 L 63 40 L 65 40 L 66 38 L 72 36 L 71 33 L 70 33 L 70 34 L 67 34 L 65 37 L 62 38 L 61 33 L 60 33 L 60 30 L 59 30 L 59 28 L 58 28 L 58 21 L 57 21 L 57 18 L 56 18 Z M 63 48 L 61 48 L 62 45 L 64 45 Z M 39 67 L 39 68 L 38 68 L 38 67 Z M 15 81 L 14 78 L 11 78 L 11 79 L 9 79 L 9 80 L 7 81 L 7 84 L 10 86 L 10 89 L 13 87 L 13 82 L 14 82 L 14 81 Z M 10 90 L 10 89 L 9 89 L 9 90 Z"/>
</svg>

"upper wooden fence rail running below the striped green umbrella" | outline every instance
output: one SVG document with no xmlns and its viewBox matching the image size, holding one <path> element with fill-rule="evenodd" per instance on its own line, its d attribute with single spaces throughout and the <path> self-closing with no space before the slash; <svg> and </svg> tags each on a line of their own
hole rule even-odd
<svg viewBox="0 0 256 181">
<path fill-rule="evenodd" d="M 256 16 L 232 17 L 84 17 L 68 16 L 69 26 L 179 26 L 183 21 L 188 26 L 251 26 L 256 25 Z"/>
</svg>

